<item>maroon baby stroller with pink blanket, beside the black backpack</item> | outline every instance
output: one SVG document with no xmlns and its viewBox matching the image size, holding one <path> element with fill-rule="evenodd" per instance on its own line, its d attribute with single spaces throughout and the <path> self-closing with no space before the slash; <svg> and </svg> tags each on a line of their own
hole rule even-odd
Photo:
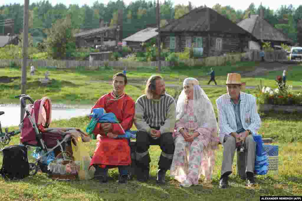
<svg viewBox="0 0 302 201">
<path fill-rule="evenodd" d="M 72 158 L 71 139 L 72 136 L 82 138 L 82 141 L 90 141 L 90 137 L 76 128 L 48 128 L 51 123 L 51 100 L 43 97 L 33 101 L 30 96 L 22 94 L 20 96 L 21 107 L 25 109 L 24 119 L 19 125 L 21 131 L 20 143 L 25 146 L 36 147 L 43 150 L 36 158 L 37 164 L 31 164 L 31 169 L 37 172 L 38 167 L 44 173 L 49 173 L 47 164 L 42 160 L 49 155 L 62 153 L 63 159 Z M 30 104 L 26 105 L 26 101 Z M 66 150 L 66 148 L 69 150 Z M 70 153 L 67 156 L 66 153 Z"/>
</svg>

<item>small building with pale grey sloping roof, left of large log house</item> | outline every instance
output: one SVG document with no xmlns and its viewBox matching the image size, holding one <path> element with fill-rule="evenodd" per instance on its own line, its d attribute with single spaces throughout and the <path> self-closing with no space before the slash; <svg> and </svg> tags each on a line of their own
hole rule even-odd
<svg viewBox="0 0 302 201">
<path fill-rule="evenodd" d="M 142 51 L 142 43 L 148 43 L 152 38 L 157 37 L 158 32 L 155 30 L 157 30 L 157 28 L 149 27 L 143 29 L 127 38 L 124 38 L 123 41 L 125 41 L 127 46 L 131 47 L 134 52 Z"/>
</svg>

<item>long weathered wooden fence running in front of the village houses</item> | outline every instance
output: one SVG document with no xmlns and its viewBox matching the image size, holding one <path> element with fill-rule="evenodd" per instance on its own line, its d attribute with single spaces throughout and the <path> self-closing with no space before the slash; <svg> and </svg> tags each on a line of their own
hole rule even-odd
<svg viewBox="0 0 302 201">
<path fill-rule="evenodd" d="M 287 59 L 286 53 L 282 50 L 275 50 L 270 52 L 265 52 L 265 60 L 285 60 Z M 225 56 L 219 57 L 206 57 L 200 59 L 188 59 L 181 60 L 186 66 L 223 66 L 234 64 L 239 61 L 260 61 L 260 50 L 251 50 L 245 53 L 239 54 L 227 54 Z M 111 66 L 117 70 L 123 70 L 125 67 L 127 69 L 137 69 L 140 67 L 150 67 L 154 68 L 158 66 L 158 61 L 149 61 L 149 62 L 136 62 L 128 60 L 119 60 L 119 61 L 77 61 L 77 60 L 37 60 L 29 59 L 28 66 L 31 64 L 35 67 L 53 67 L 53 68 L 67 68 L 67 69 L 97 69 L 100 66 Z M 10 66 L 11 62 L 16 63 L 18 66 L 22 66 L 22 59 L 10 59 L 0 60 L 0 66 Z M 174 63 L 169 61 L 161 61 L 162 66 L 173 66 Z"/>
</svg>

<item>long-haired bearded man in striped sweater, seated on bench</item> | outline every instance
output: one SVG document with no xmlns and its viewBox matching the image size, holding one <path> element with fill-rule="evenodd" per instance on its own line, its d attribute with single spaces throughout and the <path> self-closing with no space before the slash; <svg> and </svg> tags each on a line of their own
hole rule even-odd
<svg viewBox="0 0 302 201">
<path fill-rule="evenodd" d="M 150 145 L 159 145 L 162 152 L 156 182 L 164 184 L 174 153 L 172 132 L 176 122 L 176 104 L 173 97 L 165 93 L 165 81 L 161 76 L 151 76 L 145 92 L 135 103 L 137 180 L 146 182 L 149 179 L 151 159 L 148 149 Z"/>
</svg>

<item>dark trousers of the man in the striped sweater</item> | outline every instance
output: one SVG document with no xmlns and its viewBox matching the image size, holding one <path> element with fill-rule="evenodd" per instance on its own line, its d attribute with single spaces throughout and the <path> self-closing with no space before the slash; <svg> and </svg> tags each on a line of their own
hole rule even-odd
<svg viewBox="0 0 302 201">
<path fill-rule="evenodd" d="M 150 145 L 159 145 L 162 153 L 159 157 L 158 169 L 169 170 L 172 164 L 174 153 L 174 142 L 172 133 L 162 133 L 158 139 L 153 139 L 149 133 L 138 131 L 136 137 L 136 162 L 137 167 L 142 170 L 149 170 L 151 162 L 149 155 Z"/>
</svg>

